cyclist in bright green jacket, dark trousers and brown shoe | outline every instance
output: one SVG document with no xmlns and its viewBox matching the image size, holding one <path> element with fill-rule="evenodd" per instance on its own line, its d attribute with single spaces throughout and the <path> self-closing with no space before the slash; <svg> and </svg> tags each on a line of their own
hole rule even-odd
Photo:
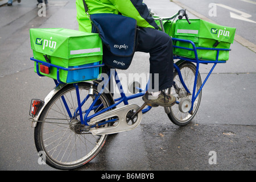
<svg viewBox="0 0 256 182">
<path fill-rule="evenodd" d="M 140 31 L 135 51 L 150 53 L 150 74 L 152 75 L 151 87 L 142 99 L 147 105 L 153 107 L 174 105 L 176 98 L 164 92 L 172 86 L 174 77 L 172 40 L 169 35 L 158 30 L 157 24 L 149 15 L 147 5 L 142 0 L 86 0 L 86 5 L 89 14 L 121 14 L 137 20 Z M 76 8 L 79 31 L 91 32 L 92 24 L 85 14 L 83 0 L 76 0 Z M 155 74 L 159 74 L 159 80 L 154 80 Z M 158 81 L 159 88 L 154 88 L 155 81 Z"/>
</svg>

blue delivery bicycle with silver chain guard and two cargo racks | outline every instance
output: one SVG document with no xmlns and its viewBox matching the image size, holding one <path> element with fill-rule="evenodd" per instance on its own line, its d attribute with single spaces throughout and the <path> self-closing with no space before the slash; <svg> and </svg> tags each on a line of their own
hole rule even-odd
<svg viewBox="0 0 256 182">
<path fill-rule="evenodd" d="M 185 16 L 189 23 L 185 10 L 180 10 L 168 18 L 155 18 L 155 20 L 159 20 L 164 31 L 163 20 L 172 20 L 176 16 L 179 16 L 179 19 Z M 176 104 L 172 107 L 164 107 L 164 110 L 175 125 L 184 126 L 195 117 L 200 106 L 202 88 L 214 67 L 217 63 L 226 63 L 226 61 L 218 61 L 218 52 L 230 51 L 230 49 L 214 49 L 217 51 L 215 61 L 199 60 L 197 57 L 199 48 L 191 40 L 177 38 L 172 40 L 192 44 L 196 56 L 195 59 L 174 56 L 174 59 L 178 60 L 174 63 L 174 86 L 166 90 L 168 94 L 176 97 Z M 54 80 L 56 87 L 44 101 L 31 101 L 33 118 L 30 119 L 32 127 L 35 128 L 36 149 L 38 152 L 44 152 L 46 163 L 53 168 L 74 169 L 84 166 L 100 152 L 109 134 L 135 129 L 142 121 L 142 114 L 151 109 L 151 106 L 146 107 L 146 104 L 140 107 L 128 102 L 146 93 L 146 89 L 139 88 L 138 82 L 130 85 L 134 93 L 131 96 L 126 96 L 122 86 L 118 87 L 121 97 L 117 99 L 106 92 L 108 91 L 106 84 L 112 75 L 116 78 L 115 83 L 121 85 L 116 70 L 109 72 L 109 79 L 103 81 L 64 84 L 59 80 L 59 70 L 71 71 L 70 68 L 59 67 L 33 57 L 31 60 L 36 61 L 39 76 L 42 76 L 38 71 L 39 63 L 57 69 L 57 80 Z M 213 64 L 203 83 L 199 72 L 201 63 Z M 72 68 L 72 70 L 103 66 L 104 64 L 92 65 Z M 117 107 L 121 103 L 125 106 Z"/>
</svg>

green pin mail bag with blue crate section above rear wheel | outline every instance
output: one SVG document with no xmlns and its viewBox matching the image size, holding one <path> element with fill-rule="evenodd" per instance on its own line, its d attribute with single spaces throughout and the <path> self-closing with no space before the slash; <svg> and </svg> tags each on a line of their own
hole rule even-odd
<svg viewBox="0 0 256 182">
<path fill-rule="evenodd" d="M 65 28 L 31 28 L 31 48 L 34 59 L 46 61 L 64 68 L 78 68 L 102 63 L 102 42 L 98 34 Z M 41 63 L 39 63 L 40 66 Z M 40 69 L 39 69 L 40 70 Z M 36 62 L 34 71 L 36 72 Z M 60 71 L 60 81 L 65 83 L 97 79 L 101 68 L 76 71 Z M 57 80 L 57 68 L 51 67 L 49 74 L 41 75 Z"/>
</svg>

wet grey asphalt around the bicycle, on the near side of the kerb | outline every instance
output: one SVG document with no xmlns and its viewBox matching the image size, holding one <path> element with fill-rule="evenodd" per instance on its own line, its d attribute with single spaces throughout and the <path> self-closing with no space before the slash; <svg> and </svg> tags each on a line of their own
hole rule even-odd
<svg viewBox="0 0 256 182">
<path fill-rule="evenodd" d="M 144 2 L 160 16 L 180 9 L 168 0 Z M 34 130 L 28 121 L 31 99 L 43 100 L 55 86 L 50 78 L 34 73 L 29 29 L 78 30 L 75 0 L 49 1 L 46 17 L 39 17 L 38 10 L 32 0 L 0 7 L 1 170 L 55 170 L 38 164 Z M 192 14 L 189 17 L 196 18 Z M 163 108 L 153 108 L 143 115 L 135 130 L 110 135 L 100 154 L 77 170 L 254 171 L 255 52 L 238 42 L 231 48 L 229 61 L 217 65 L 204 86 L 200 109 L 189 125 L 176 126 Z M 146 53 L 135 53 L 130 68 L 119 73 L 147 73 L 148 57 Z M 210 68 L 200 67 L 202 78 Z M 142 100 L 135 104 L 142 105 Z M 209 163 L 210 151 L 216 152 L 216 164 Z"/>
</svg>

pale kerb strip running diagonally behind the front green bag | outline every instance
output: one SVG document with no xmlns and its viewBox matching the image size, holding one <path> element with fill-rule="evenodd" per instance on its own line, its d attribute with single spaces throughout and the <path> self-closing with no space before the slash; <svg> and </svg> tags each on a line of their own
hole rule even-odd
<svg viewBox="0 0 256 182">
<path fill-rule="evenodd" d="M 183 9 L 187 9 L 190 13 L 192 13 L 193 15 L 197 16 L 200 19 L 203 19 L 210 23 L 218 24 L 213 20 L 207 18 L 206 16 L 197 13 L 195 10 L 190 9 L 188 6 L 183 5 L 183 3 L 180 3 L 179 1 L 176 1 L 176 0 L 170 0 L 170 1 L 174 2 L 176 5 L 182 7 Z M 235 35 L 234 40 L 240 43 L 242 46 L 245 46 L 249 48 L 251 51 L 256 53 L 256 45 L 254 43 L 251 43 L 249 40 L 246 40 L 245 38 L 242 38 L 240 35 L 237 35 L 237 34 Z"/>
</svg>

